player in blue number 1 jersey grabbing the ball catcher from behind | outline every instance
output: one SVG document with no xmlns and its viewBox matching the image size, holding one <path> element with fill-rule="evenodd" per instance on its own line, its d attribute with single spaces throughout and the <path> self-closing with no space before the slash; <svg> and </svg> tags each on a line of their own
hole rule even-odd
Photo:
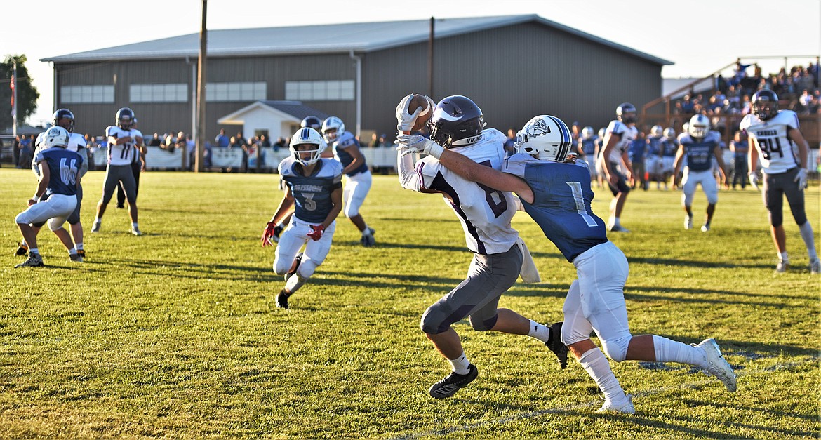
<svg viewBox="0 0 821 440">
<path fill-rule="evenodd" d="M 572 282 L 563 307 L 562 342 L 604 393 L 598 412 L 633 414 L 635 409 L 602 350 L 590 340 L 593 331 L 612 360 L 690 364 L 735 392 L 736 375 L 712 338 L 690 346 L 657 335 L 631 335 L 624 300 L 627 259 L 608 241 L 604 222 L 590 208 L 594 194 L 587 164 L 563 163 L 571 145 L 565 123 L 549 115 L 534 117 L 517 139 L 518 154 L 505 159 L 501 172 L 436 144 L 418 145 L 424 145 L 424 153 L 439 158 L 447 169 L 488 190 L 516 192 L 544 236 L 576 266 L 578 279 Z"/>
</svg>

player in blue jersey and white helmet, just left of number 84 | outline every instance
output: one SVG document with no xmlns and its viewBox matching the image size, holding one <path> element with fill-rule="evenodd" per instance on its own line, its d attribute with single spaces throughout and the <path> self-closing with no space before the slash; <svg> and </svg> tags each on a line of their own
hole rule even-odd
<svg viewBox="0 0 821 440">
<path fill-rule="evenodd" d="M 687 166 L 684 167 L 684 177 L 681 179 L 682 190 L 681 205 L 687 213 L 684 218 L 684 228 L 693 228 L 693 196 L 695 187 L 701 185 L 704 195 L 707 195 L 707 214 L 704 217 L 702 232 L 710 230 L 710 222 L 713 221 L 716 204 L 718 203 L 718 186 L 713 176 L 713 158 L 718 162 L 718 172 L 721 183 L 727 181 L 724 175 L 724 158 L 721 151 L 721 134 L 718 131 L 710 131 L 710 120 L 702 114 L 694 115 L 690 118 L 690 125 L 687 133 L 678 136 L 678 152 L 673 163 L 673 187 L 679 186 L 679 174 L 683 159 L 687 158 Z"/>
</svg>

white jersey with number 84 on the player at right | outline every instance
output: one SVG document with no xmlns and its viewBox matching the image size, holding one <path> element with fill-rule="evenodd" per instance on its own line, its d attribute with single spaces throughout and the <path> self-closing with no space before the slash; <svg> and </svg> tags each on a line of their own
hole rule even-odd
<svg viewBox="0 0 821 440">
<path fill-rule="evenodd" d="M 747 136 L 759 150 L 761 172 L 779 174 L 798 165 L 796 155 L 792 152 L 789 135 L 791 128 L 800 129 L 798 115 L 791 110 L 780 110 L 768 121 L 762 121 L 752 113 L 741 120 L 739 129 L 747 132 Z"/>
</svg>

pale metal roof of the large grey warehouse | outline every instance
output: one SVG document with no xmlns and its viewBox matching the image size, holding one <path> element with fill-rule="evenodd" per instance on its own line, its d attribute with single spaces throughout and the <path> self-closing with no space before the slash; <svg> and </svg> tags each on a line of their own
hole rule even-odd
<svg viewBox="0 0 821 440">
<path fill-rule="evenodd" d="M 435 38 L 445 38 L 527 22 L 546 25 L 582 39 L 603 44 L 659 65 L 672 62 L 639 52 L 633 48 L 601 39 L 580 30 L 549 21 L 537 15 L 487 16 L 435 19 Z M 337 25 L 307 25 L 256 29 L 208 31 L 209 57 L 251 55 L 287 55 L 309 53 L 367 53 L 386 48 L 427 41 L 429 20 L 377 21 Z M 95 62 L 112 60 L 163 59 L 197 57 L 200 34 L 187 34 L 167 39 L 101 48 L 57 57 L 41 58 L 43 62 Z"/>
</svg>

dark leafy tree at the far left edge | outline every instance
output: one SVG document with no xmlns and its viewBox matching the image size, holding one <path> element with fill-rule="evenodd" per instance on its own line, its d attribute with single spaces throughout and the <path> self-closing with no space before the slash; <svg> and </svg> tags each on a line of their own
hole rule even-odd
<svg viewBox="0 0 821 440">
<path fill-rule="evenodd" d="M 14 62 L 17 62 L 17 124 L 21 124 L 26 118 L 34 114 L 37 110 L 37 99 L 40 94 L 37 88 L 31 84 L 29 71 L 25 68 L 25 55 L 7 55 L 0 63 L 0 129 L 10 127 L 13 124 L 11 117 L 11 75 L 14 71 Z"/>
</svg>

